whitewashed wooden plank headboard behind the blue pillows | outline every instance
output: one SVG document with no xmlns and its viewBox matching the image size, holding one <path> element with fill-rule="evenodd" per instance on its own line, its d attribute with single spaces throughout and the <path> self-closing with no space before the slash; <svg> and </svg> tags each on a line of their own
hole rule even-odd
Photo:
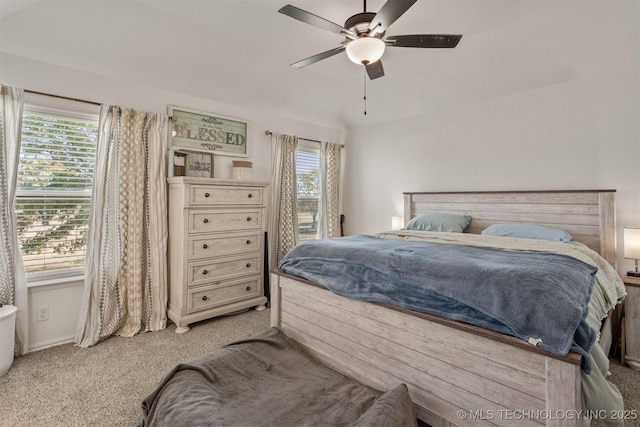
<svg viewBox="0 0 640 427">
<path fill-rule="evenodd" d="M 562 228 L 616 266 L 615 190 L 404 193 L 405 224 L 426 212 L 470 215 L 465 233 L 498 223 Z"/>
</svg>

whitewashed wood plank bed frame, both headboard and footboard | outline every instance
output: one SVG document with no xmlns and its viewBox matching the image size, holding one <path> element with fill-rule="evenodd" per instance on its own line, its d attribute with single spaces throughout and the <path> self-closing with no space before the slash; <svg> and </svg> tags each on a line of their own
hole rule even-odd
<svg viewBox="0 0 640 427">
<path fill-rule="evenodd" d="M 615 190 L 405 193 L 405 220 L 424 212 L 562 228 L 615 267 Z M 383 231 L 383 230 L 381 230 Z M 271 324 L 328 366 L 379 390 L 405 383 L 434 427 L 578 426 L 580 356 L 438 316 L 340 297 L 272 272 Z"/>
</svg>

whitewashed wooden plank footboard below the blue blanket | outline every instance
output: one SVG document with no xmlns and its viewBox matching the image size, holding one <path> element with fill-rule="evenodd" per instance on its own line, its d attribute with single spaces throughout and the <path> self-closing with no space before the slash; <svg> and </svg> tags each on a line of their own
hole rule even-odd
<svg viewBox="0 0 640 427">
<path fill-rule="evenodd" d="M 379 390 L 405 383 L 437 426 L 578 426 L 580 356 L 429 315 L 340 297 L 272 273 L 271 324 Z"/>
</svg>

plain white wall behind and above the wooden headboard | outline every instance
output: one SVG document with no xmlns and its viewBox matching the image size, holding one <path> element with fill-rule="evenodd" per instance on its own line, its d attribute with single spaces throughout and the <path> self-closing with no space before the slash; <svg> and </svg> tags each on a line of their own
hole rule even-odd
<svg viewBox="0 0 640 427">
<path fill-rule="evenodd" d="M 510 92 L 503 58 L 505 85 L 493 95 L 350 129 L 345 231 L 390 229 L 406 191 L 616 189 L 618 269 L 631 268 L 621 253 L 622 227 L 640 226 L 639 9 L 621 2 L 607 17 L 567 22 L 590 31 L 600 20 L 616 36 L 567 51 L 581 65 L 564 80 Z"/>
</svg>

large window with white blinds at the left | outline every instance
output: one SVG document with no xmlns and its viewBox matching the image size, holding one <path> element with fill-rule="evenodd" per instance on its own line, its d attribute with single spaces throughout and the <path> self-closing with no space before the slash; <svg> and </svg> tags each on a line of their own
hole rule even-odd
<svg viewBox="0 0 640 427">
<path fill-rule="evenodd" d="M 97 139 L 96 113 L 25 105 L 16 215 L 27 274 L 81 271 Z"/>
</svg>

